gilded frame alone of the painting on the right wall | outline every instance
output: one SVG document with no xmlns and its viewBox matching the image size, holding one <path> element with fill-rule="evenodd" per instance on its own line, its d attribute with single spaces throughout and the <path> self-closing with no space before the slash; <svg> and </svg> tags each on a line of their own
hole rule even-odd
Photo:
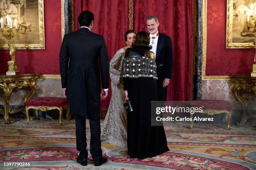
<svg viewBox="0 0 256 170">
<path fill-rule="evenodd" d="M 233 0 L 227 0 L 226 48 L 254 48 L 253 42 L 232 42 Z"/>
</svg>

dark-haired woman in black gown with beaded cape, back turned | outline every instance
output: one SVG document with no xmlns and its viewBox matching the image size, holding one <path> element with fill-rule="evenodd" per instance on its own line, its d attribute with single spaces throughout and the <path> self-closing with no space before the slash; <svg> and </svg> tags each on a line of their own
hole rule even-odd
<svg viewBox="0 0 256 170">
<path fill-rule="evenodd" d="M 125 51 L 122 74 L 125 99 L 133 112 L 127 114 L 127 148 L 131 158 L 154 157 L 169 150 L 163 126 L 151 126 L 151 101 L 157 101 L 156 62 L 150 37 L 141 31 Z"/>
</svg>

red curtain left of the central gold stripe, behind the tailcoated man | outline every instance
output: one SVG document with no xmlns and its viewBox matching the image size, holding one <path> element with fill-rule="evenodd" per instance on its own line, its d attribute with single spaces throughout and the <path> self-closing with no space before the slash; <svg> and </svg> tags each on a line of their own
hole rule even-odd
<svg viewBox="0 0 256 170">
<path fill-rule="evenodd" d="M 78 16 L 82 10 L 89 10 L 94 14 L 92 32 L 103 35 L 108 49 L 109 61 L 117 50 L 127 46 L 124 34 L 128 30 L 128 1 L 124 0 L 75 0 L 75 27 L 80 28 Z M 101 101 L 102 108 L 108 108 L 111 97 L 109 81 L 109 95 Z"/>
</svg>

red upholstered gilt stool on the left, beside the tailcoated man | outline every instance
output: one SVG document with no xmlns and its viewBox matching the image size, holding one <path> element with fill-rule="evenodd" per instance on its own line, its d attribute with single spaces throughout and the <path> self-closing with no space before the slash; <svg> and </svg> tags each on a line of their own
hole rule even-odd
<svg viewBox="0 0 256 170">
<path fill-rule="evenodd" d="M 69 104 L 66 98 L 63 97 L 36 97 L 26 101 L 26 116 L 27 116 L 27 124 L 29 124 L 29 109 L 36 110 L 36 118 L 38 119 L 38 110 L 47 111 L 52 109 L 59 110 L 59 124 L 62 125 L 62 110 L 67 109 L 67 120 L 70 120 L 69 116 Z"/>
</svg>

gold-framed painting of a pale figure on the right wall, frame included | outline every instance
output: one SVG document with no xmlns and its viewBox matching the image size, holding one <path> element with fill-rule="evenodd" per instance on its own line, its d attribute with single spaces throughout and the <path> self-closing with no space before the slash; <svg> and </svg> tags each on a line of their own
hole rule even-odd
<svg viewBox="0 0 256 170">
<path fill-rule="evenodd" d="M 227 0 L 226 48 L 253 48 L 256 0 Z"/>
</svg>

